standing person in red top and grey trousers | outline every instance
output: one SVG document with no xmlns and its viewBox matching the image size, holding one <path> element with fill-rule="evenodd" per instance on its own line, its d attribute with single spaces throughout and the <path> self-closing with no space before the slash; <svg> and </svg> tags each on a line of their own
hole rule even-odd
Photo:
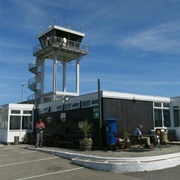
<svg viewBox="0 0 180 180">
<path fill-rule="evenodd" d="M 42 147 L 43 144 L 43 130 L 45 129 L 45 124 L 42 119 L 36 123 L 36 148 L 38 146 Z"/>
</svg>

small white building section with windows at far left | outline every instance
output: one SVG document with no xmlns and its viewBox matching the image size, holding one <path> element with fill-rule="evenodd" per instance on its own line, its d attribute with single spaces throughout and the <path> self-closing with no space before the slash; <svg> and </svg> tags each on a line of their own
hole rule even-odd
<svg viewBox="0 0 180 180">
<path fill-rule="evenodd" d="M 22 142 L 34 130 L 33 104 L 7 104 L 0 110 L 0 142 Z"/>
</svg>

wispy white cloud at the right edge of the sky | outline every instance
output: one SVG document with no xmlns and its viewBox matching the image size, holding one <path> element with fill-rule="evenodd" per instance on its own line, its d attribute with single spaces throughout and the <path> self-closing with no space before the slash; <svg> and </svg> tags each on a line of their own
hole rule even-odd
<svg viewBox="0 0 180 180">
<path fill-rule="evenodd" d="M 167 23 L 124 38 L 120 42 L 120 46 L 128 50 L 180 53 L 178 37 L 180 37 L 180 24 L 178 22 Z"/>
</svg>

